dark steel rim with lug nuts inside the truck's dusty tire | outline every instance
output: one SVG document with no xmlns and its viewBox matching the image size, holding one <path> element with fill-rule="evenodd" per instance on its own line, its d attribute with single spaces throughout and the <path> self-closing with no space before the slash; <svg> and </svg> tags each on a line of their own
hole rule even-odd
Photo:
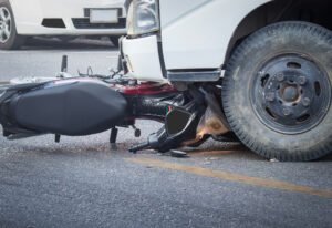
<svg viewBox="0 0 332 228">
<path fill-rule="evenodd" d="M 283 134 L 299 134 L 317 126 L 331 105 L 326 72 L 307 56 L 283 54 L 260 69 L 250 102 L 259 120 Z"/>
</svg>

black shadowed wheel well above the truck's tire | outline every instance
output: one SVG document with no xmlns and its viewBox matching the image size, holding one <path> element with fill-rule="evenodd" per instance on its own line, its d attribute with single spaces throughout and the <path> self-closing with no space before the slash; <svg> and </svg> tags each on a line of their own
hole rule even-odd
<svg viewBox="0 0 332 228">
<path fill-rule="evenodd" d="M 271 23 L 307 21 L 332 30 L 331 8 L 332 2 L 325 0 L 274 0 L 257 8 L 235 30 L 225 62 L 228 62 L 232 51 L 245 38 Z"/>
</svg>

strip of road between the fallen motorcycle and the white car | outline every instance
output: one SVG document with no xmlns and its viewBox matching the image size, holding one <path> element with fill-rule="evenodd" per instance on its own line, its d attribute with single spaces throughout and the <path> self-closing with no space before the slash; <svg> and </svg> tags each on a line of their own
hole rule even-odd
<svg viewBox="0 0 332 228">
<path fill-rule="evenodd" d="M 69 73 L 108 74 L 117 65 L 117 49 L 111 41 L 75 40 L 69 43 L 48 39 L 31 40 L 18 51 L 0 52 L 0 80 L 22 76 L 55 76 L 62 55 L 69 56 Z"/>
</svg>

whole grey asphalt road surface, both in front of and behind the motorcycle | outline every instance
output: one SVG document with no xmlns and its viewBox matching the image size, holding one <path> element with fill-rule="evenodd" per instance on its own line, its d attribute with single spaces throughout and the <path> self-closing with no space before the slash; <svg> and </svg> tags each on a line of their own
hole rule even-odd
<svg viewBox="0 0 332 228">
<path fill-rule="evenodd" d="M 45 50 L 44 50 L 45 49 Z M 0 51 L 0 80 L 116 65 L 108 43 L 43 41 Z M 83 70 L 82 70 L 83 71 Z M 264 160 L 239 144 L 208 142 L 174 158 L 127 152 L 142 138 L 120 132 L 87 137 L 0 138 L 0 227 L 332 227 L 332 156 L 313 163 Z M 1 132 L 1 129 L 0 129 Z"/>
</svg>

